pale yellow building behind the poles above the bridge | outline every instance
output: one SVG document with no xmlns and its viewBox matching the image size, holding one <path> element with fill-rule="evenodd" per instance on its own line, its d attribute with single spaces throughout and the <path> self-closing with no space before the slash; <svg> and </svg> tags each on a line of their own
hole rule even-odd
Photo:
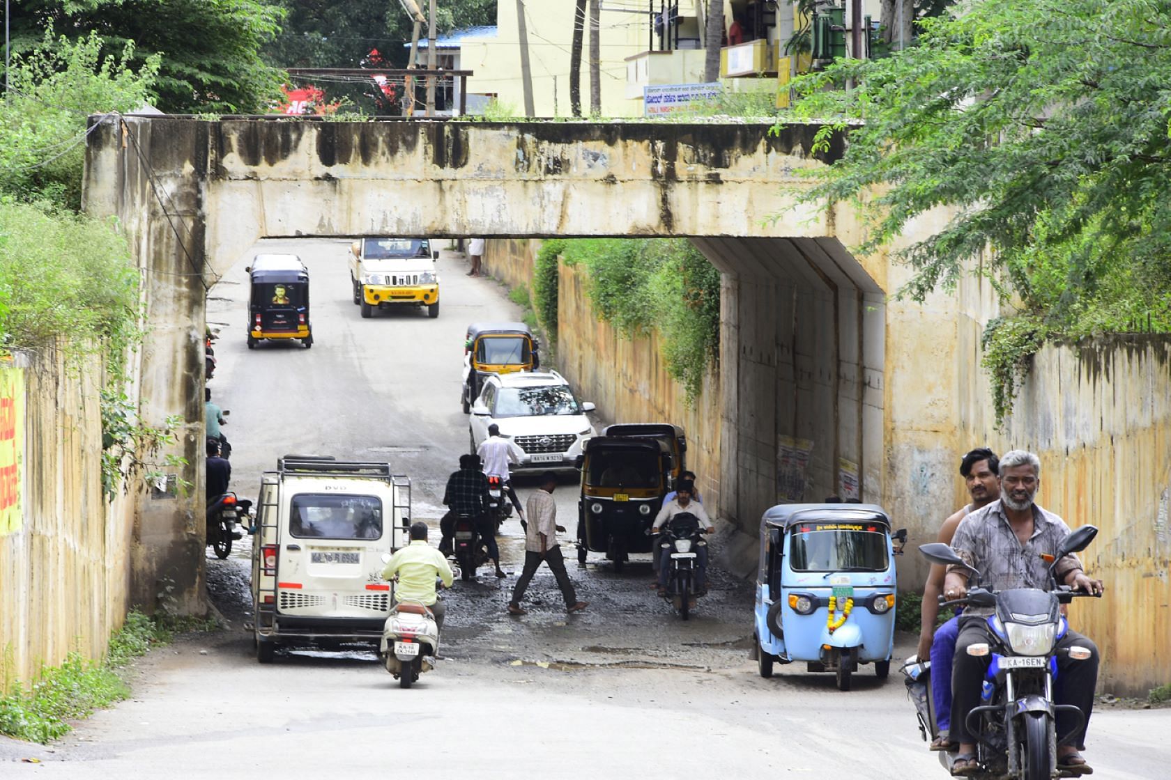
<svg viewBox="0 0 1171 780">
<path fill-rule="evenodd" d="M 600 0 L 598 39 L 602 116 L 643 116 L 646 87 L 697 84 L 704 81 L 704 29 L 713 0 Z M 725 35 L 720 75 L 731 89 L 772 89 L 786 83 L 795 60 L 785 58 L 786 42 L 807 21 L 786 0 L 723 0 Z M 534 113 L 571 116 L 569 64 L 574 0 L 499 0 L 495 27 L 461 30 L 438 41 L 447 67 L 471 70 L 470 112 L 495 99 L 518 115 L 525 111 L 518 6 L 525 12 L 532 69 Z M 847 29 L 850 1 L 843 7 Z M 588 8 L 588 4 L 587 4 Z M 864 0 L 863 13 L 877 23 L 879 0 Z M 582 43 L 582 112 L 590 108 L 589 19 Z M 849 33 L 847 33 L 849 39 Z M 847 54 L 849 43 L 847 43 Z M 425 62 L 425 50 L 420 50 Z M 783 73 L 782 73 L 783 71 Z M 780 80 L 778 76 L 780 75 Z M 766 80 L 761 84 L 761 80 Z"/>
</svg>

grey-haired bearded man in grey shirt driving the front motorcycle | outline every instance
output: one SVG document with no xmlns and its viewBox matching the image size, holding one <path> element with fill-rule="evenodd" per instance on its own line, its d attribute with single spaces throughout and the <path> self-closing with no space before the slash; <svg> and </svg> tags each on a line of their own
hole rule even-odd
<svg viewBox="0 0 1171 780">
<path fill-rule="evenodd" d="M 952 548 L 966 564 L 978 570 L 981 584 L 989 591 L 1008 588 L 1048 588 L 1048 570 L 1057 546 L 1069 536 L 1064 520 L 1034 503 L 1041 484 L 1041 461 L 1033 453 L 1012 450 L 1000 458 L 1000 498 L 965 517 L 956 530 Z M 1066 555 L 1054 570 L 1059 585 L 1098 594 L 1101 580 L 1091 580 L 1082 570 L 1076 555 Z M 958 565 L 947 567 L 944 596 L 961 599 L 967 593 L 967 570 Z M 991 607 L 968 606 L 959 621 L 956 660 L 952 671 L 951 731 L 959 743 L 959 754 L 952 774 L 964 776 L 979 771 L 975 740 L 967 732 L 966 718 L 980 702 L 980 685 L 985 677 L 988 656 L 971 656 L 967 648 L 988 642 L 987 617 Z M 1056 647 L 1080 646 L 1090 650 L 1084 661 L 1070 660 L 1068 654 L 1057 656 L 1062 684 L 1054 691 L 1056 704 L 1073 704 L 1086 716 L 1084 723 L 1073 734 L 1071 744 L 1057 747 L 1057 768 L 1069 774 L 1090 774 L 1094 769 L 1080 751 L 1086 750 L 1086 731 L 1094 710 L 1094 688 L 1097 684 L 1098 650 L 1088 637 L 1067 629 Z M 1059 739 L 1073 730 L 1068 713 L 1057 715 Z"/>
</svg>

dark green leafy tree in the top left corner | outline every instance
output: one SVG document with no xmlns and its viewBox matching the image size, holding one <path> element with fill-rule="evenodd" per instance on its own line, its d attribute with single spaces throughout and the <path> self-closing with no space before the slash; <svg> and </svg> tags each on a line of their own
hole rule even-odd
<svg viewBox="0 0 1171 780">
<path fill-rule="evenodd" d="M 261 58 L 285 12 L 267 0 L 23 0 L 13 5 L 14 51 L 46 29 L 70 40 L 97 33 L 133 63 L 162 55 L 152 103 L 169 113 L 249 113 L 279 97 L 280 71 Z"/>
</svg>

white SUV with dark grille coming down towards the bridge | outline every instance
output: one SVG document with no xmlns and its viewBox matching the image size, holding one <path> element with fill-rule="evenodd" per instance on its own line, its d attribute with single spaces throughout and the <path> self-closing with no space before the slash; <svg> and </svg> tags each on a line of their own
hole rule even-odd
<svg viewBox="0 0 1171 780">
<path fill-rule="evenodd" d="M 587 412 L 593 403 L 578 403 L 569 382 L 555 371 L 492 374 L 484 381 L 472 405 L 468 426 L 474 453 L 488 437 L 488 426 L 500 426 L 522 450 L 522 469 L 573 469 L 590 436 Z"/>
</svg>

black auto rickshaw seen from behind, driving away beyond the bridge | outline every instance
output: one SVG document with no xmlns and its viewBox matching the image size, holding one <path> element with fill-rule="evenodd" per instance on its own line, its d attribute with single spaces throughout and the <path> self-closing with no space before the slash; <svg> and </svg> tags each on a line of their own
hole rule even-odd
<svg viewBox="0 0 1171 780">
<path fill-rule="evenodd" d="M 309 271 L 296 255 L 256 255 L 247 269 L 248 348 L 261 339 L 300 339 L 313 346 Z"/>
</svg>

